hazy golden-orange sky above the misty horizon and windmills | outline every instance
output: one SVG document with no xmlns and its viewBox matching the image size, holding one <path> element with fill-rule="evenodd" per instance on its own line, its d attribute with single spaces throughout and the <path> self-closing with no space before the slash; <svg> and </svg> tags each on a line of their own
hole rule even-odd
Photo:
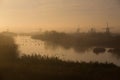
<svg viewBox="0 0 120 80">
<path fill-rule="evenodd" d="M 120 0 L 0 0 L 0 31 L 120 30 Z"/>
</svg>

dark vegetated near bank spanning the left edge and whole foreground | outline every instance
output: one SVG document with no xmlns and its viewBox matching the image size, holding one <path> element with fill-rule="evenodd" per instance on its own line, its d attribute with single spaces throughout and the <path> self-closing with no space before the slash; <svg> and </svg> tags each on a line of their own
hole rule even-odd
<svg viewBox="0 0 120 80">
<path fill-rule="evenodd" d="M 18 57 L 12 36 L 0 34 L 0 80 L 120 80 L 112 63 L 65 62 L 38 55 Z"/>
</svg>

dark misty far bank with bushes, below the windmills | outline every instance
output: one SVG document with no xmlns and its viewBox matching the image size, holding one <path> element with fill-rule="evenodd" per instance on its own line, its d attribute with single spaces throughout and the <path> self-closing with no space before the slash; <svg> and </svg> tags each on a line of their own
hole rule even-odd
<svg viewBox="0 0 120 80">
<path fill-rule="evenodd" d="M 105 33 L 60 33 L 49 31 L 33 35 L 32 38 L 60 44 L 64 47 L 120 48 L 120 35 Z"/>
</svg>

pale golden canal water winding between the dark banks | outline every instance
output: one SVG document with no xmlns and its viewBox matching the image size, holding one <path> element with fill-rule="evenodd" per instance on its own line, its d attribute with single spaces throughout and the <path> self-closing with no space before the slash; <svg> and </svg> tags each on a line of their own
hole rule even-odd
<svg viewBox="0 0 120 80">
<path fill-rule="evenodd" d="M 120 55 L 107 51 L 99 54 L 95 54 L 92 49 L 79 51 L 72 47 L 64 48 L 52 43 L 32 39 L 30 36 L 16 36 L 15 42 L 18 45 L 19 56 L 37 54 L 41 56 L 58 57 L 64 61 L 107 62 L 120 66 Z"/>
</svg>

